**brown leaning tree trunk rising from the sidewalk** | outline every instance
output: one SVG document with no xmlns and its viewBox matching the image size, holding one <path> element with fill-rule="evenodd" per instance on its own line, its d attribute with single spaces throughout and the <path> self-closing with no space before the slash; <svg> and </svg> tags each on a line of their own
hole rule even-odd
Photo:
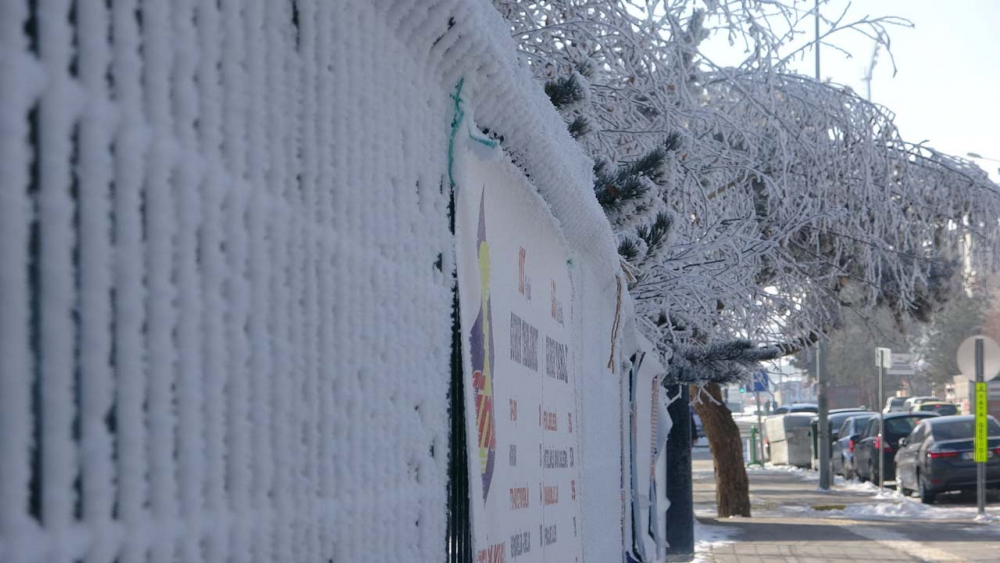
<svg viewBox="0 0 1000 563">
<path fill-rule="evenodd" d="M 699 401 L 694 408 L 701 417 L 715 459 L 715 502 L 719 518 L 750 516 L 750 483 L 743 463 L 740 429 L 722 402 L 719 385 L 709 383 L 705 390 L 717 402 Z"/>
</svg>

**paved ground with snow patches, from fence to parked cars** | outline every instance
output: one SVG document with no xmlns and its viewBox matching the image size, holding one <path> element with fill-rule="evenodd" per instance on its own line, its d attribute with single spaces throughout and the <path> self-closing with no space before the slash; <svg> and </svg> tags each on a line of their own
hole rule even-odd
<svg viewBox="0 0 1000 563">
<path fill-rule="evenodd" d="M 741 424 L 741 430 L 749 424 Z M 712 457 L 702 439 L 693 454 L 698 561 L 997 561 L 1000 502 L 990 497 L 977 521 L 974 495 L 925 506 L 894 490 L 836 479 L 818 489 L 816 473 L 750 469 L 752 518 L 715 518 Z"/>
</svg>

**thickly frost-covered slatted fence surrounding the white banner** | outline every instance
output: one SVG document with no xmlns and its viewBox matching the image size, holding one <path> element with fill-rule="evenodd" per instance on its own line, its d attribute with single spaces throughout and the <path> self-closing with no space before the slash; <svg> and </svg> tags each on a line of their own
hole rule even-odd
<svg viewBox="0 0 1000 563">
<path fill-rule="evenodd" d="M 445 559 L 463 77 L 576 264 L 584 555 L 620 558 L 628 295 L 487 3 L 10 0 L 0 560 Z"/>
</svg>

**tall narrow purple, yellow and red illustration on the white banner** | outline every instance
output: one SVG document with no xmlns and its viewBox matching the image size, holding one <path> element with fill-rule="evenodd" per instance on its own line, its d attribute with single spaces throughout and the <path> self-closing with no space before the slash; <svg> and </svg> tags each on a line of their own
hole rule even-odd
<svg viewBox="0 0 1000 563">
<path fill-rule="evenodd" d="M 469 334 L 472 356 L 472 388 L 476 397 L 476 427 L 479 436 L 479 472 L 483 478 L 483 502 L 490 493 L 496 462 L 496 424 L 493 420 L 493 312 L 490 304 L 490 245 L 486 242 L 486 191 L 479 200 L 479 315 Z"/>
</svg>

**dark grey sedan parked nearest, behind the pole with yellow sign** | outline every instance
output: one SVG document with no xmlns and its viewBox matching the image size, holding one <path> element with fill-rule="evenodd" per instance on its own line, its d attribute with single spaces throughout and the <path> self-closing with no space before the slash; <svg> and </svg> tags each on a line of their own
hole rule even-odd
<svg viewBox="0 0 1000 563">
<path fill-rule="evenodd" d="M 899 441 L 896 488 L 905 496 L 920 493 L 926 504 L 939 493 L 976 488 L 972 415 L 934 417 L 920 421 Z M 1000 488 L 1000 424 L 987 417 L 986 487 Z"/>
</svg>

